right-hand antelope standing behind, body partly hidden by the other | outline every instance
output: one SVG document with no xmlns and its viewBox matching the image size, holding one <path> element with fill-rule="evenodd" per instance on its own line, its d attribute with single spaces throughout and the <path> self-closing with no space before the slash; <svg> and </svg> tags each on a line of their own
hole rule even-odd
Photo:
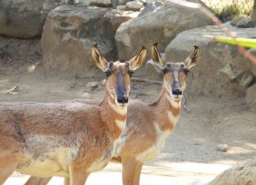
<svg viewBox="0 0 256 185">
<path fill-rule="evenodd" d="M 157 43 L 152 46 L 152 60 L 164 73 L 160 98 L 148 105 L 139 100 L 132 100 L 128 105 L 126 128 L 115 146 L 112 161 L 122 162 L 122 182 L 124 185 L 140 183 L 141 168 L 146 161 L 155 158 L 164 146 L 179 120 L 181 100 L 186 87 L 186 74 L 198 63 L 199 50 L 184 62 L 164 62 Z M 85 100 L 73 100 L 85 102 Z M 92 102 L 94 104 L 96 102 Z M 43 183 L 43 180 L 45 183 Z M 31 177 L 26 185 L 47 184 L 50 179 Z"/>
</svg>

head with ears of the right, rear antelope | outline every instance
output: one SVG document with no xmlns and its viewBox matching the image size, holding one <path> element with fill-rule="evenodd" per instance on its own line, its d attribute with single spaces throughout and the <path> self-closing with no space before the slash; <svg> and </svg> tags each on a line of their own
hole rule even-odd
<svg viewBox="0 0 256 185">
<path fill-rule="evenodd" d="M 180 99 L 186 87 L 186 75 L 190 68 L 198 63 L 199 49 L 194 46 L 194 52 L 183 62 L 167 62 L 161 57 L 157 49 L 157 43 L 152 46 L 152 61 L 161 68 L 164 74 L 164 88 L 171 98 Z"/>
</svg>

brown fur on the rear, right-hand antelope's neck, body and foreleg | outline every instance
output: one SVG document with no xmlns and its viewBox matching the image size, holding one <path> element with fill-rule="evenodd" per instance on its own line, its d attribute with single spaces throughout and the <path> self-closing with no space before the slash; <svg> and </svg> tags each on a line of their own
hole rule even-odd
<svg viewBox="0 0 256 185">
<path fill-rule="evenodd" d="M 127 133 L 126 142 L 122 146 L 119 156 L 112 157 L 111 159 L 114 162 L 122 162 L 123 184 L 139 184 L 143 163 L 137 161 L 136 157 L 156 143 L 158 135 L 153 123 L 158 123 L 162 131 L 174 128 L 173 123 L 168 121 L 165 112 L 173 110 L 175 115 L 178 115 L 179 109 L 171 107 L 168 100 L 164 98 L 164 94 L 166 94 L 166 91 L 163 88 L 160 99 L 155 105 L 148 105 L 140 100 L 132 100 L 128 105 L 128 117 L 125 128 Z M 72 102 L 88 103 L 86 100 L 73 100 Z M 91 103 L 95 104 L 96 102 Z M 31 177 L 30 179 L 36 179 L 36 177 Z M 32 183 L 27 185 L 30 184 Z"/>
</svg>

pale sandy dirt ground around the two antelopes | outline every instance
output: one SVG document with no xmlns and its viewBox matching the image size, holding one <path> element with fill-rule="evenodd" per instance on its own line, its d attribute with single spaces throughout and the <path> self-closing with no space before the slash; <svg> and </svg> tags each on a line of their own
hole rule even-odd
<svg viewBox="0 0 256 185">
<path fill-rule="evenodd" d="M 31 46 L 38 47 L 37 43 Z M 25 48 L 24 52 L 29 53 L 29 50 L 32 48 Z M 37 61 L 30 59 L 27 54 L 1 63 L 0 101 L 52 102 L 73 98 L 100 100 L 103 97 L 104 87 L 88 87 L 89 82 L 100 82 L 103 78 L 46 71 L 40 62 L 35 65 Z M 8 91 L 13 87 L 17 88 Z M 160 84 L 133 80 L 131 98 L 152 102 L 158 98 L 159 91 Z M 256 156 L 256 113 L 248 108 L 243 98 L 188 94 L 186 106 L 190 113 L 183 109 L 162 153 L 144 165 L 142 185 L 203 184 L 226 168 Z M 221 143 L 228 144 L 227 152 L 216 150 L 216 145 Z M 14 173 L 5 184 L 23 184 L 27 178 Z M 92 174 L 87 184 L 117 185 L 121 182 L 121 165 L 110 164 L 103 171 Z M 55 177 L 50 184 L 62 184 L 62 178 Z"/>
</svg>

